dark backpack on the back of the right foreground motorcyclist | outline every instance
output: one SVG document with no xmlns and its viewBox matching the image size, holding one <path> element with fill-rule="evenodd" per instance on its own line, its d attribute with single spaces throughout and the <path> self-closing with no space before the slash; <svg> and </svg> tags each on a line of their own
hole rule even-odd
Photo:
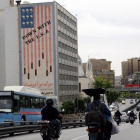
<svg viewBox="0 0 140 140">
<path fill-rule="evenodd" d="M 106 120 L 101 111 L 101 104 L 99 104 L 98 106 L 95 106 L 94 103 L 92 103 L 92 111 L 86 114 L 85 116 L 86 125 L 92 122 L 99 123 L 100 125 L 105 125 Z"/>
</svg>

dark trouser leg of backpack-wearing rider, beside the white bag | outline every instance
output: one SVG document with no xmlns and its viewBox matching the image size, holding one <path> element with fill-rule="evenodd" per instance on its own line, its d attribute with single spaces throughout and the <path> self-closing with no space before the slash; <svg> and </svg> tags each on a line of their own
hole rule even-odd
<svg viewBox="0 0 140 140">
<path fill-rule="evenodd" d="M 104 127 L 105 137 L 106 139 L 111 138 L 111 131 L 112 131 L 112 123 L 106 120 L 106 125 Z"/>
</svg>

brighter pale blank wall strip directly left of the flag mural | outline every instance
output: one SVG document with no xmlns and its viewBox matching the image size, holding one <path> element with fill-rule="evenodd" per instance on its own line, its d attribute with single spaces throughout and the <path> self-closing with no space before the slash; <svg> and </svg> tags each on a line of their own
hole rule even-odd
<svg viewBox="0 0 140 140">
<path fill-rule="evenodd" d="M 17 7 L 5 8 L 6 86 L 19 85 L 19 39 Z"/>
</svg>

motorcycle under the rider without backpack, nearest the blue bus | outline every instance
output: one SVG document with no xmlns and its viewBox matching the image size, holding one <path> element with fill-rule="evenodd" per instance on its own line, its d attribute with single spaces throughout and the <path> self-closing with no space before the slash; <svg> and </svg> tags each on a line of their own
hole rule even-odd
<svg viewBox="0 0 140 140">
<path fill-rule="evenodd" d="M 58 140 L 58 138 L 55 138 L 56 128 L 51 121 L 38 121 L 38 125 L 43 140 Z"/>
</svg>

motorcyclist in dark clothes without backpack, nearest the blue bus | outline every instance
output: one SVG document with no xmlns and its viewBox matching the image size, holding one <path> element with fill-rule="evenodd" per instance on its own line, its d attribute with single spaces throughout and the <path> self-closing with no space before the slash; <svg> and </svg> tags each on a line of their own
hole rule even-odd
<svg viewBox="0 0 140 140">
<path fill-rule="evenodd" d="M 61 123 L 58 120 L 59 117 L 62 117 L 62 114 L 58 112 L 56 108 L 53 107 L 53 100 L 47 99 L 46 106 L 44 106 L 41 110 L 42 120 L 51 121 L 56 127 L 56 138 L 59 138 Z"/>
</svg>

